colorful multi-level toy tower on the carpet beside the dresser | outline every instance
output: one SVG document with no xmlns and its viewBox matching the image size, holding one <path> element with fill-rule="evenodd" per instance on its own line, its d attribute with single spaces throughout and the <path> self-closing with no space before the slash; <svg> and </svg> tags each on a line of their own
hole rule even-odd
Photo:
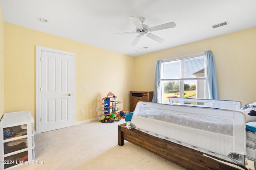
<svg viewBox="0 0 256 170">
<path fill-rule="evenodd" d="M 112 100 L 110 100 L 110 98 L 112 98 Z M 104 109 L 102 110 L 104 112 L 104 114 L 102 114 L 103 119 L 100 120 L 102 123 L 112 123 L 112 122 L 120 121 L 121 118 L 126 117 L 125 110 L 122 110 L 119 107 L 116 107 L 122 104 L 122 102 L 116 101 L 116 98 L 117 97 L 112 92 L 108 92 L 107 96 L 102 99 L 104 101 L 104 103 L 102 103 L 104 107 L 101 107 L 102 109 Z M 112 102 L 112 106 L 110 106 L 110 102 Z M 110 109 L 112 109 L 111 113 L 110 113 Z M 122 116 L 120 114 L 122 114 Z"/>
</svg>

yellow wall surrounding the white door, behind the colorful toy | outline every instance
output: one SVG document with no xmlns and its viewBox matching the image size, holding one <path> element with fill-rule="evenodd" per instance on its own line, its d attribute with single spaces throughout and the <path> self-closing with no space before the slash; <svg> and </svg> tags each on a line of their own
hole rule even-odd
<svg viewBox="0 0 256 170">
<path fill-rule="evenodd" d="M 4 112 L 29 110 L 36 118 L 36 45 L 76 54 L 76 122 L 100 117 L 110 91 L 129 110 L 134 57 L 4 22 Z"/>
</svg>

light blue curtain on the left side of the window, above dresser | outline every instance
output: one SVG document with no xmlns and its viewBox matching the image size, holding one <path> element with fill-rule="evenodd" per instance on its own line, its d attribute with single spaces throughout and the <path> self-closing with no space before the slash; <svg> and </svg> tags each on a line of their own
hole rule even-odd
<svg viewBox="0 0 256 170">
<path fill-rule="evenodd" d="M 161 64 L 162 60 L 158 60 L 156 63 L 156 75 L 155 75 L 155 89 L 152 102 L 162 103 L 162 88 L 161 88 Z"/>
</svg>

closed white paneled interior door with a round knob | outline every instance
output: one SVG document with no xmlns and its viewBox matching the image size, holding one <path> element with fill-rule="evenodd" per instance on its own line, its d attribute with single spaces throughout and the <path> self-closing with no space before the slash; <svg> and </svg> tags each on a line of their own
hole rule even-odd
<svg viewBox="0 0 256 170">
<path fill-rule="evenodd" d="M 40 55 L 39 123 L 41 133 L 72 126 L 74 68 L 73 56 L 69 53 L 41 50 Z"/>
</svg>

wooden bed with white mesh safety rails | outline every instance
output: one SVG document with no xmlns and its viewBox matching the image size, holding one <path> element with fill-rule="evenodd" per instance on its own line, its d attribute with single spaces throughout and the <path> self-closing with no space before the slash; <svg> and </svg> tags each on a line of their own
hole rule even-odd
<svg viewBox="0 0 256 170">
<path fill-rule="evenodd" d="M 249 150 L 248 160 L 246 147 L 247 119 L 237 111 L 240 102 L 228 104 L 236 110 L 184 103 L 138 102 L 131 120 L 118 126 L 118 145 L 129 141 L 187 169 L 254 168 L 255 150 Z M 195 103 L 201 106 L 191 107 Z"/>
</svg>

